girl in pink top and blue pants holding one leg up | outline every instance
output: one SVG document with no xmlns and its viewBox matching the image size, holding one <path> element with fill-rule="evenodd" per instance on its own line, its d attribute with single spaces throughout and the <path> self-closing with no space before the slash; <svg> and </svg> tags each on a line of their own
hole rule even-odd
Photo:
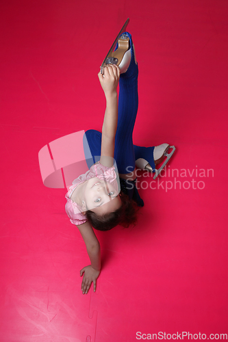
<svg viewBox="0 0 228 342">
<path fill-rule="evenodd" d="M 88 293 L 92 282 L 96 291 L 96 280 L 101 272 L 100 245 L 92 226 L 107 231 L 117 224 L 125 227 L 136 224 L 136 211 L 144 205 L 136 188 L 137 161 L 138 165 L 143 163 L 142 169 L 154 172 L 155 164 L 164 159 L 169 148 L 168 144 L 145 148 L 132 142 L 138 110 L 138 64 L 131 35 L 125 32 L 119 39 L 116 53 L 122 54 L 121 64 L 119 67 L 107 64 L 103 75 L 98 75 L 106 98 L 102 134 L 89 130 L 84 135 L 85 155 L 89 146 L 93 157 L 86 159 L 90 170 L 75 179 L 66 194 L 66 213 L 71 223 L 79 228 L 91 261 L 91 265 L 80 271 L 80 276 L 84 274 L 83 294 Z M 121 40 L 127 41 L 127 49 L 120 52 Z M 95 156 L 101 156 L 97 163 L 94 163 Z M 115 172 L 115 161 L 118 172 Z"/>
</svg>

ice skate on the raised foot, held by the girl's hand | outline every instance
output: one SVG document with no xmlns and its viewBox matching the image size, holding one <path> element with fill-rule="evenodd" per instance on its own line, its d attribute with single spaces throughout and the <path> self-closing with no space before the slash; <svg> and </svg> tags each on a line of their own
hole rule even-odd
<svg viewBox="0 0 228 342">
<path fill-rule="evenodd" d="M 129 42 L 129 37 L 127 34 L 123 34 L 126 31 L 126 27 L 129 23 L 129 18 L 123 25 L 121 31 L 118 33 L 118 36 L 114 40 L 110 51 L 108 51 L 107 56 L 103 60 L 101 64 L 101 74 L 103 74 L 103 68 L 107 66 L 107 64 L 116 64 L 120 69 L 121 73 L 125 73 L 129 64 L 131 62 L 131 47 Z M 116 43 L 118 42 L 118 49 L 114 50 L 116 47 Z"/>
</svg>

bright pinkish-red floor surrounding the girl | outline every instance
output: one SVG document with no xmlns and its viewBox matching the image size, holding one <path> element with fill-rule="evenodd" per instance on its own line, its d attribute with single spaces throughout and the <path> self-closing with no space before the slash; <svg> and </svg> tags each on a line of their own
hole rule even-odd
<svg viewBox="0 0 228 342">
<path fill-rule="evenodd" d="M 228 334 L 227 14 L 226 0 L 2 1 L 1 342 Z M 154 189 L 138 174 L 138 225 L 96 231 L 102 272 L 82 295 L 86 247 L 66 189 L 43 185 L 38 152 L 101 129 L 97 73 L 127 17 L 140 68 L 134 143 L 177 150 Z"/>
</svg>

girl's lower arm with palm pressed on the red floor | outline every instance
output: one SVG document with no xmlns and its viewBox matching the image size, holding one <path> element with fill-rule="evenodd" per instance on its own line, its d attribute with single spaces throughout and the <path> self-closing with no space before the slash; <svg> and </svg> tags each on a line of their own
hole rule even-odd
<svg viewBox="0 0 228 342">
<path fill-rule="evenodd" d="M 91 262 L 91 265 L 84 267 L 80 271 L 80 276 L 84 274 L 81 283 L 81 291 L 84 294 L 88 293 L 92 282 L 94 291 L 96 291 L 97 278 L 101 272 L 101 249 L 99 241 L 88 221 L 80 224 L 77 228 L 79 228 L 81 236 L 85 241 L 86 250 Z"/>
</svg>

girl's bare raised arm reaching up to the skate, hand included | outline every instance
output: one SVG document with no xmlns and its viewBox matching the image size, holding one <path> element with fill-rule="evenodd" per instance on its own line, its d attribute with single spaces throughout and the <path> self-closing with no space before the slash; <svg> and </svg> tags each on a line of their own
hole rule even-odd
<svg viewBox="0 0 228 342">
<path fill-rule="evenodd" d="M 104 74 L 99 75 L 99 81 L 106 98 L 105 117 L 103 119 L 101 138 L 101 164 L 111 168 L 114 164 L 115 135 L 118 122 L 117 86 L 120 79 L 118 66 L 110 64 L 104 68 Z"/>
</svg>

